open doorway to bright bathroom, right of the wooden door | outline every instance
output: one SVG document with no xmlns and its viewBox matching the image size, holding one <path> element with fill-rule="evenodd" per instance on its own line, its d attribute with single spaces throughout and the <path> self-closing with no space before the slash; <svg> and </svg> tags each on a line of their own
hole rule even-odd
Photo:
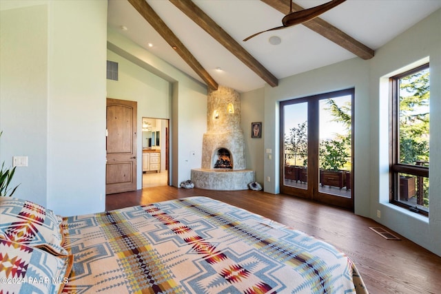
<svg viewBox="0 0 441 294">
<path fill-rule="evenodd" d="M 170 185 L 169 120 L 143 117 L 143 188 Z"/>
</svg>

